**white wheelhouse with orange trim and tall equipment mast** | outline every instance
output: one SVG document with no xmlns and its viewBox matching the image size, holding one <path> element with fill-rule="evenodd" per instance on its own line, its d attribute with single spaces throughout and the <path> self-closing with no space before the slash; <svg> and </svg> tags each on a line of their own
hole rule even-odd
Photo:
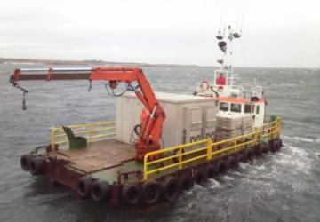
<svg viewBox="0 0 320 222">
<path fill-rule="evenodd" d="M 264 123 L 268 123 L 270 118 L 273 120 L 276 115 L 265 114 L 267 99 L 264 96 L 263 87 L 256 84 L 256 79 L 252 79 L 249 87 L 237 85 L 236 79 L 239 75 L 234 72 L 232 65 L 233 52 L 232 45 L 235 39 L 241 37 L 241 30 L 234 31 L 231 26 L 223 32 L 219 31 L 216 38 L 218 39 L 218 46 L 223 52 L 223 58 L 217 59 L 220 68 L 213 73 L 212 81 L 203 80 L 197 84 L 194 95 L 212 98 L 219 109 L 218 118 L 238 118 L 252 119 L 252 124 L 243 125 L 251 131 L 253 128 L 261 128 Z M 245 123 L 244 123 L 245 124 Z M 221 125 L 220 130 L 226 126 Z M 235 130 L 235 129 L 228 129 Z M 216 131 L 219 134 L 219 131 Z M 234 132 L 239 134 L 240 132 Z"/>
</svg>

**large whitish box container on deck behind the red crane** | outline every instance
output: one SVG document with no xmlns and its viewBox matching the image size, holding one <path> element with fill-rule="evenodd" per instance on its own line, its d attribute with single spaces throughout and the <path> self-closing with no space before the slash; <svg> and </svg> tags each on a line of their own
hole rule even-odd
<svg viewBox="0 0 320 222">
<path fill-rule="evenodd" d="M 193 95 L 179 95 L 155 92 L 161 107 L 164 108 L 165 120 L 163 137 L 159 143 L 162 147 L 172 147 L 203 138 L 204 109 L 210 107 L 209 114 L 215 114 L 215 101 Z M 133 128 L 140 123 L 143 105 L 133 92 L 124 93 L 116 99 L 116 139 L 132 143 L 136 136 Z M 210 128 L 214 129 L 215 118 L 209 118 Z M 163 143 L 163 144 L 162 144 Z"/>
</svg>

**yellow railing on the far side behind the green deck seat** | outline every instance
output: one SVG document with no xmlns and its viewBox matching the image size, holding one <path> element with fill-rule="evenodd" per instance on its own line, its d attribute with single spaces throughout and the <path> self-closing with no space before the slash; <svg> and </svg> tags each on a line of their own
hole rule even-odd
<svg viewBox="0 0 320 222">
<path fill-rule="evenodd" d="M 85 137 L 88 142 L 109 138 L 110 136 L 114 136 L 116 134 L 114 121 L 68 125 L 68 127 L 71 128 L 76 136 Z M 55 144 L 62 146 L 68 145 L 69 143 L 68 137 L 63 131 L 62 127 L 52 128 L 50 139 L 50 144 L 52 147 L 54 147 Z"/>
</svg>

